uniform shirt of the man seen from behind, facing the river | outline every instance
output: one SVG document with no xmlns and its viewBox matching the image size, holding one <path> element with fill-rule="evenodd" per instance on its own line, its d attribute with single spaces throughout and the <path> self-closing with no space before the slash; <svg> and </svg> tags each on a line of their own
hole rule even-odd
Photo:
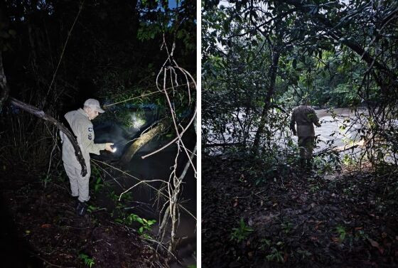
<svg viewBox="0 0 398 268">
<path fill-rule="evenodd" d="M 315 136 L 313 125 L 320 126 L 318 117 L 312 107 L 300 105 L 291 112 L 290 128 L 295 130 L 297 124 L 297 136 Z"/>
</svg>

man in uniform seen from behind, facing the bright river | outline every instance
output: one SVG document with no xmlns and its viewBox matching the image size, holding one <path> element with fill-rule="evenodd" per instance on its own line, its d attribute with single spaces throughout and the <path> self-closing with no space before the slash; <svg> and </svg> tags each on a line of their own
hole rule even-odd
<svg viewBox="0 0 398 268">
<path fill-rule="evenodd" d="M 318 122 L 315 110 L 308 106 L 308 104 L 308 100 L 303 99 L 301 105 L 293 109 L 293 112 L 291 112 L 290 129 L 295 136 L 298 136 L 300 165 L 311 168 L 312 151 L 315 144 L 313 125 L 321 127 L 321 124 Z M 295 124 L 297 124 L 297 132 Z"/>
</svg>

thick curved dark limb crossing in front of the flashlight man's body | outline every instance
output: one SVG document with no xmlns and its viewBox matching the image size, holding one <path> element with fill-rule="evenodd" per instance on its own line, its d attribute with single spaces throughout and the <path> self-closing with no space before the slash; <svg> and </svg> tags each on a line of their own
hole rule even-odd
<svg viewBox="0 0 398 268">
<path fill-rule="evenodd" d="M 54 124 L 55 127 L 60 129 L 60 131 L 62 131 L 66 136 L 68 136 L 68 139 L 70 140 L 70 143 L 72 144 L 73 149 L 75 149 L 75 155 L 76 155 L 77 161 L 79 161 L 80 165 L 82 166 L 82 176 L 86 176 L 87 167 L 85 164 L 85 159 L 83 158 L 82 151 L 80 150 L 79 144 L 77 144 L 75 136 L 69 131 L 68 128 L 66 128 L 63 124 L 58 122 L 54 117 L 50 117 L 48 114 L 45 114 L 45 112 L 32 106 L 31 104 L 21 102 L 20 100 L 16 100 L 13 97 L 10 97 L 9 100 L 10 100 L 11 104 L 18 107 L 19 109 L 23 109 L 26 112 L 36 115 L 36 117 L 39 117 L 45 121 L 50 122 L 51 124 Z"/>
</svg>

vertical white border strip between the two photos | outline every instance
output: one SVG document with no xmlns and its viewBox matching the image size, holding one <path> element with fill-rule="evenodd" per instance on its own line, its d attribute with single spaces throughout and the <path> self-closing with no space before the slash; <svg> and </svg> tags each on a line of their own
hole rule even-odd
<svg viewBox="0 0 398 268">
<path fill-rule="evenodd" d="M 196 178 L 196 219 L 197 219 L 197 233 L 196 233 L 196 263 L 197 267 L 200 268 L 202 267 L 202 141 L 201 141 L 201 129 L 202 129 L 202 114 L 201 114 L 201 89 L 202 89 L 202 50 L 201 50 L 201 40 L 202 40 L 202 31 L 201 31 L 201 26 L 202 26 L 202 3 L 201 0 L 196 1 L 196 22 L 197 22 L 197 27 L 196 27 L 196 77 L 197 77 L 197 111 L 198 115 L 196 117 L 197 119 L 197 136 L 196 136 L 196 141 L 197 141 L 197 146 L 198 146 L 198 153 L 196 155 L 196 161 L 197 161 L 197 171 L 198 171 L 198 176 Z"/>
</svg>

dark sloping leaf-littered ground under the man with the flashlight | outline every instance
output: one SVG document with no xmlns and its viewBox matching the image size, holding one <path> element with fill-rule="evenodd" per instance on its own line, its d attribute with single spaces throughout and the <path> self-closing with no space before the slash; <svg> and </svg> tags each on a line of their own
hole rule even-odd
<svg viewBox="0 0 398 268">
<path fill-rule="evenodd" d="M 1 267 L 167 267 L 156 245 L 106 211 L 77 216 L 65 179 L 13 174 L 0 180 Z"/>
</svg>

